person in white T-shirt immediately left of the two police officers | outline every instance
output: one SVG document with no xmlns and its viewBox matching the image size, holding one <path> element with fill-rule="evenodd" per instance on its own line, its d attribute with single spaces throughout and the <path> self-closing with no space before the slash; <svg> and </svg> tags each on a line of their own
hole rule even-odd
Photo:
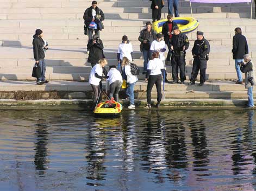
<svg viewBox="0 0 256 191">
<path fill-rule="evenodd" d="M 157 39 L 154 40 L 151 43 L 150 50 L 151 52 L 159 52 L 159 59 L 164 63 L 165 66 L 165 51 L 167 49 L 167 46 L 165 44 L 165 41 L 162 39 L 162 36 L 160 33 L 156 35 Z M 165 82 L 168 82 L 166 78 L 166 69 L 165 69 Z"/>
</svg>

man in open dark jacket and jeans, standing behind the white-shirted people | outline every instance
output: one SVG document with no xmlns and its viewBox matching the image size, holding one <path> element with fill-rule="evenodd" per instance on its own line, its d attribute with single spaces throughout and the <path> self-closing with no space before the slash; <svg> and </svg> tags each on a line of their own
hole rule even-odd
<svg viewBox="0 0 256 191">
<path fill-rule="evenodd" d="M 140 51 L 143 53 L 143 74 L 147 73 L 147 63 L 151 59 L 150 46 L 151 43 L 155 40 L 155 31 L 152 29 L 151 22 L 146 23 L 146 29 L 141 30 L 138 40 L 140 43 Z"/>
</svg>

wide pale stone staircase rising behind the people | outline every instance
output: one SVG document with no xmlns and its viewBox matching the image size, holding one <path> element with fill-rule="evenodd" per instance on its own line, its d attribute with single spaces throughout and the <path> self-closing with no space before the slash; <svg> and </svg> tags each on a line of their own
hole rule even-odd
<svg viewBox="0 0 256 191">
<path fill-rule="evenodd" d="M 98 1 L 106 20 L 101 39 L 110 65 L 116 65 L 117 46 L 122 35 L 127 35 L 134 47 L 135 63 L 143 65 L 138 36 L 147 21 L 152 19 L 151 2 L 142 0 Z M 180 16 L 191 16 L 189 1 L 179 2 Z M 31 77 L 33 60 L 32 36 L 36 28 L 44 31 L 49 43 L 46 53 L 47 79 L 88 80 L 90 64 L 84 54 L 88 36 L 83 34 L 83 14 L 91 0 L 0 0 L 0 79 L 34 80 Z M 192 4 L 193 17 L 199 21 L 198 30 L 204 31 L 210 41 L 208 79 L 235 79 L 232 60 L 234 28 L 241 27 L 249 44 L 250 54 L 256 62 L 256 21 L 250 20 L 251 5 Z M 254 10 L 254 7 L 253 7 Z M 162 17 L 167 15 L 166 7 Z M 253 17 L 255 12 L 253 13 Z M 191 42 L 186 57 L 187 76 L 191 73 L 193 40 L 196 31 L 188 34 Z M 171 68 L 168 67 L 168 78 Z M 143 76 L 140 76 L 143 79 Z"/>
</svg>

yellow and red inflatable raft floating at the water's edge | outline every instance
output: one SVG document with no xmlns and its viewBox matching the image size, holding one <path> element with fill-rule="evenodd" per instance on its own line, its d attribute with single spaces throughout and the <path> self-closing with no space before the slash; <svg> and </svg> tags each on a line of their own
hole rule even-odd
<svg viewBox="0 0 256 191">
<path fill-rule="evenodd" d="M 120 103 L 114 101 L 114 99 L 111 99 L 99 103 L 93 110 L 93 113 L 99 116 L 113 116 L 120 114 L 122 109 L 123 107 Z"/>
</svg>

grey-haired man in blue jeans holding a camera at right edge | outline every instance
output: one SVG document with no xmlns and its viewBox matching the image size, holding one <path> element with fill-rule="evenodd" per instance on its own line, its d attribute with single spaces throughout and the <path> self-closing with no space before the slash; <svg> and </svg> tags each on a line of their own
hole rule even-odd
<svg viewBox="0 0 256 191">
<path fill-rule="evenodd" d="M 239 65 L 241 67 L 241 72 L 245 73 L 245 88 L 247 88 L 248 107 L 254 107 L 253 93 L 252 93 L 253 86 L 256 83 L 254 65 L 252 63 L 252 60 L 249 54 L 243 55 L 243 60 L 245 61 L 245 63 L 240 62 Z"/>
</svg>

